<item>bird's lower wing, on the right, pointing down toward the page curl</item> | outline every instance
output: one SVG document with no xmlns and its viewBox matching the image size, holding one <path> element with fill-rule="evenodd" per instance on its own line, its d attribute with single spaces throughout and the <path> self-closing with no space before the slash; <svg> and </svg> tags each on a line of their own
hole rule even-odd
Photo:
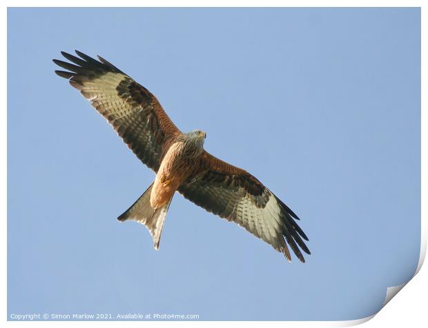
<svg viewBox="0 0 428 328">
<path fill-rule="evenodd" d="M 304 263 L 300 249 L 311 254 L 308 240 L 295 220 L 299 220 L 269 189 L 248 172 L 203 152 L 191 176 L 178 191 L 189 201 L 233 221 L 262 238 L 287 260 L 289 247 Z M 300 247 L 300 249 L 299 249 Z"/>
</svg>

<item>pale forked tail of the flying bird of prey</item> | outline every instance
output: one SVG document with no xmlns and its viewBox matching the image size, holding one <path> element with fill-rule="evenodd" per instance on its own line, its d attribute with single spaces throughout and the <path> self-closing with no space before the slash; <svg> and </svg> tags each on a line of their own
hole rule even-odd
<svg viewBox="0 0 428 328">
<path fill-rule="evenodd" d="M 126 220 L 133 220 L 142 223 L 146 226 L 148 231 L 153 237 L 153 246 L 159 249 L 160 236 L 162 228 L 164 227 L 165 216 L 168 212 L 169 205 L 173 197 L 171 196 L 168 203 L 154 209 L 150 206 L 150 193 L 152 191 L 153 183 L 147 190 L 140 196 L 131 207 L 129 207 L 124 214 L 121 214 L 117 220 L 123 222 Z"/>
</svg>

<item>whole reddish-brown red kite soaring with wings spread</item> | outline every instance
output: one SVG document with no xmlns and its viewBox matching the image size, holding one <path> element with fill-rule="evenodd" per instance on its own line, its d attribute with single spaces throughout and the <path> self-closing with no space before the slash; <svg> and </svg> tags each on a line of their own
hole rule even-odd
<svg viewBox="0 0 428 328">
<path fill-rule="evenodd" d="M 61 54 L 71 63 L 53 59 L 66 70 L 55 73 L 68 79 L 156 174 L 119 221 L 145 225 L 159 249 L 166 213 L 179 192 L 208 212 L 244 227 L 288 261 L 291 247 L 304 263 L 300 249 L 311 252 L 304 243 L 306 234 L 296 223 L 298 216 L 249 172 L 206 152 L 205 132 L 181 132 L 153 94 L 105 59 L 98 56 L 97 61 L 77 50 L 78 57 Z"/>
</svg>

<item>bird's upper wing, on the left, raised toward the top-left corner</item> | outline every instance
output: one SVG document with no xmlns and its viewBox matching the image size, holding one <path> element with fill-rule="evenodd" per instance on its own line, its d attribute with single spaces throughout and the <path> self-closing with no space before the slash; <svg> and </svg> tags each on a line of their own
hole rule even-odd
<svg viewBox="0 0 428 328">
<path fill-rule="evenodd" d="M 61 52 L 72 63 L 53 61 L 66 71 L 55 72 L 90 101 L 113 125 L 137 157 L 151 169 L 159 169 L 168 142 L 180 131 L 146 88 L 111 63 L 76 51 L 80 57 Z"/>
</svg>

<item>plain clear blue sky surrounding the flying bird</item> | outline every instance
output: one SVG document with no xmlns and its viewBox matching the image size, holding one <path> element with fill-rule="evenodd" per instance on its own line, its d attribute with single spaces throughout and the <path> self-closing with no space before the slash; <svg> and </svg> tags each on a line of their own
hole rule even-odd
<svg viewBox="0 0 428 328">
<path fill-rule="evenodd" d="M 304 265 L 177 194 L 159 252 L 118 223 L 154 174 L 52 58 L 101 55 L 302 220 Z M 420 10 L 8 10 L 8 314 L 351 320 L 420 250 Z"/>
</svg>

